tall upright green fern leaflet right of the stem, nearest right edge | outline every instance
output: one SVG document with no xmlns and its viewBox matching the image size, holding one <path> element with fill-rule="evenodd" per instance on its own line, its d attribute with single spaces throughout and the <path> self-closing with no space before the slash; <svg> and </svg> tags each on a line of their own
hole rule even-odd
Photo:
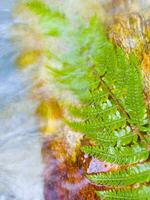
<svg viewBox="0 0 150 200">
<path fill-rule="evenodd" d="M 139 63 L 134 56 L 130 56 L 130 66 L 128 67 L 127 76 L 127 95 L 125 97 L 125 109 L 127 110 L 132 124 L 143 125 L 145 106 L 143 96 L 143 86 L 141 74 L 139 71 Z M 134 95 L 133 95 L 134 94 Z"/>
</svg>

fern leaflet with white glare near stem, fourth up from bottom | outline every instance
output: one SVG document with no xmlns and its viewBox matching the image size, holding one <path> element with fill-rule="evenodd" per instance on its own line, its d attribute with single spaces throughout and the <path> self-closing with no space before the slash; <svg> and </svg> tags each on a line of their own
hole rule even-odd
<svg viewBox="0 0 150 200">
<path fill-rule="evenodd" d="M 74 110 L 74 111 L 76 112 L 77 110 Z M 75 113 L 74 115 L 78 115 L 78 113 Z M 104 122 L 102 122 L 102 124 L 103 123 Z M 83 122 L 72 122 L 72 121 L 68 122 L 67 121 L 67 124 L 70 127 L 72 127 L 73 130 L 84 133 L 88 138 L 96 141 L 97 144 L 122 146 L 122 145 L 126 145 L 132 142 L 134 143 L 137 141 L 137 135 L 132 134 L 129 126 L 126 126 L 124 128 L 122 128 L 121 126 L 121 128 L 118 127 L 117 129 L 113 131 L 113 130 L 110 130 L 109 127 L 103 128 L 102 125 L 99 126 L 97 129 L 96 128 L 94 129 L 92 125 L 87 126 L 87 125 L 84 125 Z M 117 124 L 115 123 L 115 127 L 116 125 Z"/>
</svg>

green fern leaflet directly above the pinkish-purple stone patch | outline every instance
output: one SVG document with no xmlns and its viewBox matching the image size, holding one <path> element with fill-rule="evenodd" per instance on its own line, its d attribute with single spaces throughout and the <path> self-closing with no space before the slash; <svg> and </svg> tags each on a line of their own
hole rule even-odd
<svg viewBox="0 0 150 200">
<path fill-rule="evenodd" d="M 132 145 L 131 147 L 99 147 L 84 146 L 82 150 L 102 161 L 115 164 L 130 164 L 147 160 L 149 152 L 145 146 Z"/>
</svg>

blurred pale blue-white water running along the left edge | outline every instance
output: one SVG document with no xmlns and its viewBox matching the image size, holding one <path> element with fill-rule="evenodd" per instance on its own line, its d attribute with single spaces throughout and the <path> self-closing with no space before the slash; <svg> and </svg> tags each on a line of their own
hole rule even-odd
<svg viewBox="0 0 150 200">
<path fill-rule="evenodd" d="M 0 2 L 0 200 L 42 200 L 41 138 L 30 71 L 15 65 L 14 0 Z"/>
</svg>

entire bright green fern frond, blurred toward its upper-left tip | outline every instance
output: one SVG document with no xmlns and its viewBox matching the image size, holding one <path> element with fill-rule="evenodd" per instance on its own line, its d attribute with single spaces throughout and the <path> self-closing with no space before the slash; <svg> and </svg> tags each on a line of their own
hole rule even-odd
<svg viewBox="0 0 150 200">
<path fill-rule="evenodd" d="M 94 142 L 82 147 L 86 154 L 123 165 L 116 172 L 89 176 L 94 183 L 112 186 L 97 194 L 109 200 L 149 199 L 150 188 L 143 185 L 150 179 L 150 165 L 139 163 L 149 157 L 150 123 L 137 57 L 113 45 L 96 16 L 86 23 L 79 20 L 74 27 L 64 14 L 40 1 L 29 1 L 26 6 L 38 16 L 43 33 L 61 37 L 67 49 L 59 55 L 50 52 L 61 68 L 47 66 L 61 91 L 72 92 L 80 102 L 67 104 L 71 120 L 66 117 L 64 121 Z M 138 185 L 117 188 L 133 184 Z"/>
</svg>

